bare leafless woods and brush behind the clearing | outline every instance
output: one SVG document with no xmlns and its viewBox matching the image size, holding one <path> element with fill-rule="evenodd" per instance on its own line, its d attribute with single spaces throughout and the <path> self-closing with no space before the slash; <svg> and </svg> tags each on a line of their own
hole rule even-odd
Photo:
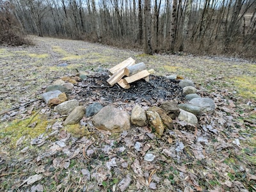
<svg viewBox="0 0 256 192">
<path fill-rule="evenodd" d="M 255 0 L 0 0 L 0 22 L 0 44 L 29 34 L 255 59 Z"/>
</svg>

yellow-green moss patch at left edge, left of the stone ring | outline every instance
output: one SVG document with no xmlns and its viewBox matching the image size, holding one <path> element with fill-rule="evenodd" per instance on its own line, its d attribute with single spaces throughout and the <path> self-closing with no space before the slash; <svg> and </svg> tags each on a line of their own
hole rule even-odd
<svg viewBox="0 0 256 192">
<path fill-rule="evenodd" d="M 35 127 L 28 127 L 29 124 L 35 124 Z M 35 138 L 45 132 L 49 124 L 45 116 L 36 115 L 24 120 L 13 120 L 10 124 L 0 129 L 0 138 L 10 138 L 11 146 L 15 147 L 15 143 L 21 136 L 29 136 Z"/>
</svg>

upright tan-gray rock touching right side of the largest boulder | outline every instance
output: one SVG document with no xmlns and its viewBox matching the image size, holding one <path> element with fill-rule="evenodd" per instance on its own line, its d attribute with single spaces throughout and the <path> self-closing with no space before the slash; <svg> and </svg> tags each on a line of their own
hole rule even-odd
<svg viewBox="0 0 256 192">
<path fill-rule="evenodd" d="M 141 106 L 136 105 L 132 109 L 131 123 L 139 127 L 143 127 L 148 124 L 146 112 L 141 108 Z"/>
</svg>

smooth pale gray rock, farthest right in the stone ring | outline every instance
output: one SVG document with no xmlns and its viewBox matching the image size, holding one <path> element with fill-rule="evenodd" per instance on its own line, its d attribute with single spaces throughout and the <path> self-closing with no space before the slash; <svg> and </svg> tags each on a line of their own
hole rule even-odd
<svg viewBox="0 0 256 192">
<path fill-rule="evenodd" d="M 215 110 L 214 101 L 210 98 L 195 98 L 189 100 L 189 103 L 202 108 L 205 113 L 213 113 Z"/>
</svg>

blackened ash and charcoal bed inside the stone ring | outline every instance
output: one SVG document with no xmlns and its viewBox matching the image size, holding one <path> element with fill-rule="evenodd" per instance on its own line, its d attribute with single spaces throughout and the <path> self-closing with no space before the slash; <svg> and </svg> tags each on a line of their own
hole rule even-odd
<svg viewBox="0 0 256 192">
<path fill-rule="evenodd" d="M 163 100 L 173 100 L 177 103 L 185 100 L 185 95 L 176 79 L 150 75 L 148 82 L 140 79 L 131 83 L 131 88 L 125 90 L 118 84 L 109 86 L 108 78 L 108 72 L 89 76 L 74 87 L 72 91 L 72 95 L 75 95 L 74 99 L 82 102 L 104 102 L 104 104 L 118 101 L 147 102 L 150 106 Z"/>
</svg>

